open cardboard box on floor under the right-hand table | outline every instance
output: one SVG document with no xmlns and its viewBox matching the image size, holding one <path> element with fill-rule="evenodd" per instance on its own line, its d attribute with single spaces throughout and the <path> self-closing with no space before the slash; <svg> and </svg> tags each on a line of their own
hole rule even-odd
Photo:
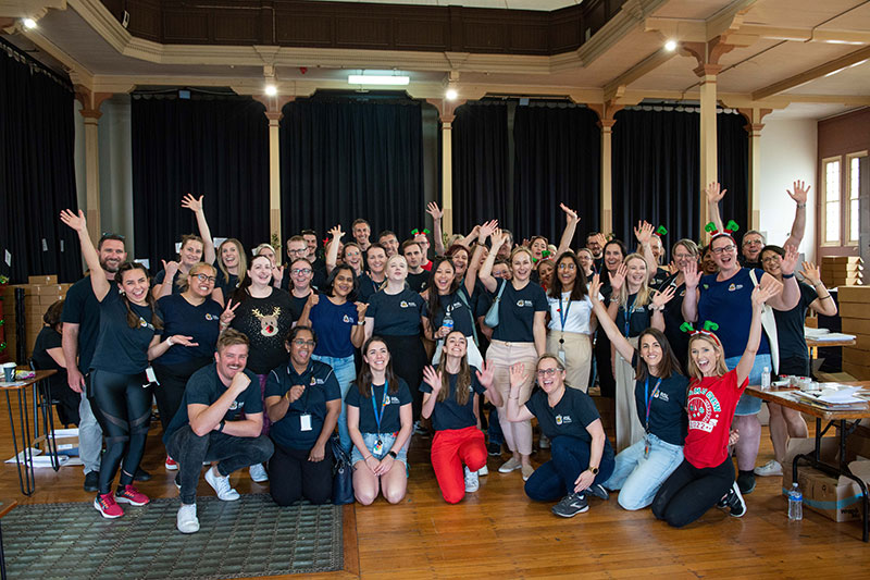
<svg viewBox="0 0 870 580">
<path fill-rule="evenodd" d="M 816 442 L 813 439 L 792 439 L 785 452 L 782 466 L 782 493 L 787 496 L 792 489 L 792 460 L 797 454 L 811 454 Z M 840 437 L 822 437 L 821 459 L 836 465 Z M 856 460 L 849 464 L 852 472 L 870 482 L 870 461 Z M 834 521 L 861 519 L 861 490 L 848 478 L 838 479 L 812 469 L 805 465 L 797 468 L 797 484 L 804 494 L 804 506 Z"/>
</svg>

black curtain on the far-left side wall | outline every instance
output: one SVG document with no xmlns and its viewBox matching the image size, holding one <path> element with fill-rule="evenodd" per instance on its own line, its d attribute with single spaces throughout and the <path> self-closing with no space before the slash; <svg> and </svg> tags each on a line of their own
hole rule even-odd
<svg viewBox="0 0 870 580">
<path fill-rule="evenodd" d="M 69 83 L 0 40 L 0 273 L 12 283 L 82 276 L 78 238 L 59 219 L 78 207 L 73 100 Z"/>
</svg>

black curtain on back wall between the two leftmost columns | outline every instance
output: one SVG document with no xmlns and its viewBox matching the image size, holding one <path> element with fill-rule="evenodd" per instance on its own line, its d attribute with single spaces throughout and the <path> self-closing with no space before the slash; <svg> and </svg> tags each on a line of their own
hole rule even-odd
<svg viewBox="0 0 870 580">
<path fill-rule="evenodd" d="M 149 258 L 153 272 L 183 234 L 197 233 L 194 213 L 181 205 L 187 193 L 206 196 L 212 236 L 236 237 L 249 249 L 270 240 L 264 111 L 249 98 L 134 94 L 136 257 Z"/>
</svg>

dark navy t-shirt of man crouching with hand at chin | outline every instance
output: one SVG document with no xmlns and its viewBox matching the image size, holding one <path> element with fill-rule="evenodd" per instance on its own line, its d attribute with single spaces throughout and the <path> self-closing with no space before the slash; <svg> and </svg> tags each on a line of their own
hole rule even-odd
<svg viewBox="0 0 870 580">
<path fill-rule="evenodd" d="M 224 421 L 238 421 L 240 415 L 257 415 L 263 412 L 263 400 L 260 398 L 260 380 L 248 369 L 243 370 L 251 384 L 243 391 L 236 400 L 229 405 L 224 415 Z M 159 387 L 158 387 L 159 388 Z M 170 421 L 166 427 L 166 432 L 163 434 L 163 443 L 166 443 L 173 433 L 190 422 L 187 416 L 188 405 L 213 405 L 221 396 L 226 393 L 227 386 L 221 381 L 217 375 L 216 363 L 211 363 L 208 367 L 202 367 L 197 372 L 190 375 L 187 380 L 187 386 L 184 390 L 182 397 L 182 405 L 175 417 Z"/>
</svg>

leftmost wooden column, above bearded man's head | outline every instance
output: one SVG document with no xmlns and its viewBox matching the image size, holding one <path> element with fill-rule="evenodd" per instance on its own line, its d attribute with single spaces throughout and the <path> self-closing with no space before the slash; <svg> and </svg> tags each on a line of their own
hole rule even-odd
<svg viewBox="0 0 870 580">
<path fill-rule="evenodd" d="M 78 111 L 85 119 L 85 218 L 88 235 L 96 244 L 101 236 L 100 223 L 100 107 L 111 92 L 92 92 L 84 85 L 75 86 L 75 98 L 82 103 Z"/>
</svg>

